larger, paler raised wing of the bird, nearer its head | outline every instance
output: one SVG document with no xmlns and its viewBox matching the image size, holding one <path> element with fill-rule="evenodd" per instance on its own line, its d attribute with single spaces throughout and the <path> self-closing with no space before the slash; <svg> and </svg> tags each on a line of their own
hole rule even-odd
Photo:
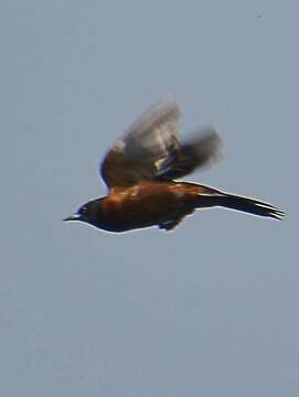
<svg viewBox="0 0 299 397">
<path fill-rule="evenodd" d="M 137 120 L 118 139 L 102 164 L 106 184 L 127 186 L 141 180 L 153 180 L 159 162 L 169 158 L 177 139 L 180 109 L 177 103 L 160 101 Z"/>
</svg>

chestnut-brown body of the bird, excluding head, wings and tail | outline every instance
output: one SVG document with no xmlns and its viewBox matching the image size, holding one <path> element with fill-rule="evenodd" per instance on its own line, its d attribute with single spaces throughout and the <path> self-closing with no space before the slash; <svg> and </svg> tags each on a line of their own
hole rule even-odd
<svg viewBox="0 0 299 397">
<path fill-rule="evenodd" d="M 109 232 L 154 225 L 168 228 L 170 223 L 194 211 L 194 186 L 175 182 L 140 182 L 130 187 L 113 189 L 106 197 L 94 202 L 99 221 L 97 226 Z"/>
</svg>

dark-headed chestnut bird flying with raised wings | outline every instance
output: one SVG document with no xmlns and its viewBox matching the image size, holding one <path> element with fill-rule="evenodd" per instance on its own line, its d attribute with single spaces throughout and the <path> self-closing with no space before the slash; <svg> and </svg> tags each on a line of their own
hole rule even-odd
<svg viewBox="0 0 299 397">
<path fill-rule="evenodd" d="M 282 219 L 278 207 L 202 184 L 178 181 L 220 157 L 221 138 L 206 126 L 189 140 L 179 138 L 181 111 L 162 99 L 117 139 L 99 167 L 108 193 L 88 201 L 63 221 L 79 221 L 119 233 L 158 226 L 172 230 L 195 210 L 225 207 Z"/>
</svg>

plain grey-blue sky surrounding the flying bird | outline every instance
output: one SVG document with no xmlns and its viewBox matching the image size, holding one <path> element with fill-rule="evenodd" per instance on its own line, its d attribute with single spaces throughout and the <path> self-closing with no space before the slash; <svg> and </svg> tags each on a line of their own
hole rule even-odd
<svg viewBox="0 0 299 397">
<path fill-rule="evenodd" d="M 298 396 L 298 21 L 296 0 L 1 2 L 1 396 Z M 224 140 L 189 180 L 286 221 L 61 222 L 169 95 Z"/>
</svg>

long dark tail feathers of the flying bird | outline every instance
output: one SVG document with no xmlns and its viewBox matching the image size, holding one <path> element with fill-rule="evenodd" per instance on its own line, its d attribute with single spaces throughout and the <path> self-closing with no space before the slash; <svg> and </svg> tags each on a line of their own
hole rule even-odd
<svg viewBox="0 0 299 397">
<path fill-rule="evenodd" d="M 285 216 L 285 213 L 282 211 L 270 204 L 233 194 L 220 195 L 216 198 L 216 205 L 236 211 L 243 211 L 254 215 L 268 216 L 276 219 L 282 219 L 282 217 Z"/>
</svg>

